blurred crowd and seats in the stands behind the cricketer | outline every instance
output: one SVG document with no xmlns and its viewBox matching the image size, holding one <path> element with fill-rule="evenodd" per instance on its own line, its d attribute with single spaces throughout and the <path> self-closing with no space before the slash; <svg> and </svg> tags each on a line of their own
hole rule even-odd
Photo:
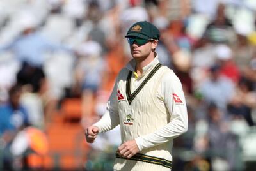
<svg viewBox="0 0 256 171">
<path fill-rule="evenodd" d="M 87 144 L 148 20 L 180 78 L 188 132 L 173 170 L 256 170 L 256 1 L 1 0 L 0 170 L 111 170 L 120 130 Z"/>
</svg>

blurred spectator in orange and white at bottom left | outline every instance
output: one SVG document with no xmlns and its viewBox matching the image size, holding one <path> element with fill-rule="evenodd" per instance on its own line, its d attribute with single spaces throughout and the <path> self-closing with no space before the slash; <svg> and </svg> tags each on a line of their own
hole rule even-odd
<svg viewBox="0 0 256 171">
<path fill-rule="evenodd" d="M 15 158 L 15 170 L 42 170 L 48 149 L 44 131 L 33 126 L 19 131 L 10 146 Z"/>
</svg>

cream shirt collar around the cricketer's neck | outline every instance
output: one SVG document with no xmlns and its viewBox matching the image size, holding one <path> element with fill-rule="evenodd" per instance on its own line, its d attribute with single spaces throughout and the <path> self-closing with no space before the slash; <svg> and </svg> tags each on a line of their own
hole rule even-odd
<svg viewBox="0 0 256 171">
<path fill-rule="evenodd" d="M 159 60 L 158 60 L 158 54 L 157 52 L 156 53 L 156 56 L 154 58 L 153 61 L 151 61 L 149 64 L 147 64 L 147 66 L 144 66 L 142 68 L 142 75 L 145 75 L 145 73 L 147 73 L 148 71 L 150 71 L 154 66 L 156 66 L 156 64 L 159 63 Z M 129 61 L 129 63 L 125 66 L 125 68 L 127 68 L 128 70 L 134 72 L 135 71 L 135 68 L 136 67 L 136 61 L 135 59 L 131 59 L 131 61 Z"/>
</svg>

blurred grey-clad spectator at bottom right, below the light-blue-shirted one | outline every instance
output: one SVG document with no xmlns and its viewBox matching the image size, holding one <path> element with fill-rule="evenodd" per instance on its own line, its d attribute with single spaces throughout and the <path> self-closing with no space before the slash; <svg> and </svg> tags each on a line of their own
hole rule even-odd
<svg viewBox="0 0 256 171">
<path fill-rule="evenodd" d="M 214 103 L 209 105 L 207 114 L 209 119 L 207 139 L 209 154 L 212 158 L 212 169 L 218 170 L 216 161 L 221 161 L 223 168 L 234 170 L 238 142 L 237 137 L 228 131 L 230 121 L 225 119 L 225 114 Z"/>
</svg>

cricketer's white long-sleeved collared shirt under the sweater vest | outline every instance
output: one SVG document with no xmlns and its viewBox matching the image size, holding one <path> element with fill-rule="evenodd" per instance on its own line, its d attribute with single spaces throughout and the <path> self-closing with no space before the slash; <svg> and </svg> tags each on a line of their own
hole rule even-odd
<svg viewBox="0 0 256 171">
<path fill-rule="evenodd" d="M 135 75 L 133 75 L 131 80 L 131 91 L 134 91 L 136 87 L 138 87 L 140 83 L 147 78 L 148 73 L 150 73 L 158 63 L 159 61 L 156 55 L 155 59 L 143 68 L 143 73 L 139 78 L 136 79 Z M 135 60 L 132 59 L 125 68 L 130 71 L 134 71 L 135 66 Z M 121 79 L 121 81 L 124 80 Z M 94 124 L 100 128 L 100 132 L 111 130 L 120 124 L 116 84 L 107 104 L 108 111 L 103 115 L 100 121 Z M 188 129 L 188 114 L 185 96 L 182 91 L 182 84 L 172 70 L 169 69 L 169 71 L 163 75 L 160 86 L 157 89 L 156 96 L 159 96 L 159 99 L 162 100 L 160 103 L 164 103 L 164 105 L 166 105 L 168 110 L 166 115 L 170 115 L 170 123 L 163 125 L 161 129 L 148 135 L 137 137 L 135 140 L 140 151 L 168 142 Z"/>
</svg>

